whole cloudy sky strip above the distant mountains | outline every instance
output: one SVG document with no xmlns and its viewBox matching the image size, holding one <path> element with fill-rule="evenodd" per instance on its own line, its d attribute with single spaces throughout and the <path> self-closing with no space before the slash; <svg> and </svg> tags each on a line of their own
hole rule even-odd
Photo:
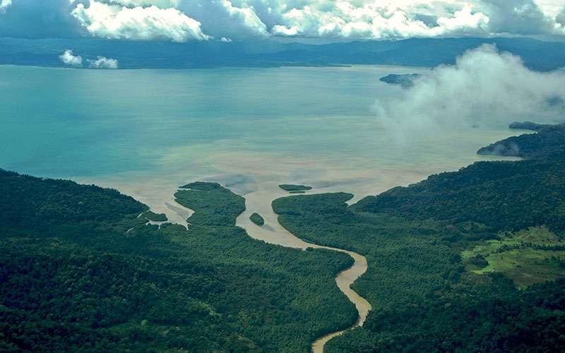
<svg viewBox="0 0 565 353">
<path fill-rule="evenodd" d="M 565 38 L 564 0 L 0 0 L 0 37 Z"/>
</svg>

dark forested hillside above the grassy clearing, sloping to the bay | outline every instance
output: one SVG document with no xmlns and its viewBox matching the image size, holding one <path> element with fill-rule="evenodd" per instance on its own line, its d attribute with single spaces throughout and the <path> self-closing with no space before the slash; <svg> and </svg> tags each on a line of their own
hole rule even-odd
<svg viewBox="0 0 565 353">
<path fill-rule="evenodd" d="M 564 139 L 565 141 L 565 139 Z M 565 160 L 476 162 L 409 187 L 364 198 L 355 209 L 494 230 L 548 225 L 565 230 Z"/>
</svg>

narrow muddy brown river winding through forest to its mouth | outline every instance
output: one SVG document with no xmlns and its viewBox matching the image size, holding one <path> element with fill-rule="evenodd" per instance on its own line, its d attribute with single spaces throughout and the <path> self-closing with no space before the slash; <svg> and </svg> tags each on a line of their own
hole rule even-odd
<svg viewBox="0 0 565 353">
<path fill-rule="evenodd" d="M 235 189 L 235 188 L 234 188 Z M 245 196 L 246 198 L 246 210 L 244 213 L 237 217 L 237 226 L 246 229 L 247 234 L 254 239 L 260 239 L 269 244 L 277 244 L 281 246 L 287 246 L 295 249 L 328 249 L 333 251 L 339 251 L 340 253 L 347 253 L 355 261 L 350 268 L 343 270 L 335 276 L 335 282 L 337 283 L 339 289 L 347 296 L 347 298 L 355 304 L 359 317 L 357 322 L 350 328 L 355 328 L 357 326 L 363 325 L 367 314 L 371 310 L 371 304 L 369 301 L 359 296 L 355 291 L 350 288 L 359 276 L 367 271 L 367 258 L 359 253 L 353 251 L 347 251 L 344 249 L 331 248 L 329 246 L 321 246 L 317 244 L 311 244 L 307 241 L 303 241 L 294 234 L 290 233 L 285 227 L 280 225 L 278 222 L 278 216 L 273 212 L 271 207 L 271 202 L 276 198 L 289 196 L 288 193 L 278 188 L 276 183 L 265 183 L 261 184 L 261 187 L 252 193 Z M 252 213 L 258 213 L 265 219 L 265 225 L 263 227 L 258 227 L 251 220 L 249 216 Z M 347 328 L 346 330 L 349 330 Z M 346 330 L 336 331 L 330 333 L 323 337 L 319 337 L 314 343 L 312 343 L 312 352 L 321 353 L 323 352 L 323 347 L 326 343 L 333 337 L 341 335 Z"/>
</svg>

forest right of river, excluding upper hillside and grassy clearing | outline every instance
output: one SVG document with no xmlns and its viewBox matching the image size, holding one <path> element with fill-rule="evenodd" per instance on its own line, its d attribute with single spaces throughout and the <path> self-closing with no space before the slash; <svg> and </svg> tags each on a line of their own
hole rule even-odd
<svg viewBox="0 0 565 353">
<path fill-rule="evenodd" d="M 353 287 L 374 310 L 363 328 L 331 340 L 328 352 L 564 347 L 562 297 L 551 299 L 551 310 L 542 310 L 524 304 L 526 294 L 528 300 L 547 302 L 542 290 L 521 292 L 504 277 L 465 272 L 460 249 L 489 237 L 484 227 L 359 213 L 347 208 L 349 198 L 292 196 L 273 203 L 280 222 L 299 237 L 367 256 L 369 270 Z M 564 289 L 564 282 L 551 287 L 554 294 Z"/>
</svg>

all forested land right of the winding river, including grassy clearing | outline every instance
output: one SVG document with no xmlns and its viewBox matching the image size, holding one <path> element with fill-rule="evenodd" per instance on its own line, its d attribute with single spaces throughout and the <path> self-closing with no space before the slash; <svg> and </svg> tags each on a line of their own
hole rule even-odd
<svg viewBox="0 0 565 353">
<path fill-rule="evenodd" d="M 563 352 L 563 128 L 509 139 L 527 160 L 476 162 L 349 207 L 344 193 L 273 202 L 298 237 L 367 257 L 354 289 L 374 310 L 326 352 Z"/>
</svg>

